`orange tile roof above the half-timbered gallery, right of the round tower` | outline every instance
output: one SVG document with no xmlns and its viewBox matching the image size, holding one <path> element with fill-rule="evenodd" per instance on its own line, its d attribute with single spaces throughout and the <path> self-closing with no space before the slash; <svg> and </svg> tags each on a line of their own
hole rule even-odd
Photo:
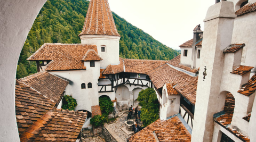
<svg viewBox="0 0 256 142">
<path fill-rule="evenodd" d="M 125 72 L 146 74 L 167 62 L 163 60 L 124 59 Z"/>
</svg>

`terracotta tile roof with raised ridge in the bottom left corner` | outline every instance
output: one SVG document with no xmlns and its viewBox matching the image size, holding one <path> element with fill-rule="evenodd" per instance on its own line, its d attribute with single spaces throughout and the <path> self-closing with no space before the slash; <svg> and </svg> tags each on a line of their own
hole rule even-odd
<svg viewBox="0 0 256 142">
<path fill-rule="evenodd" d="M 20 135 L 20 141 L 76 141 L 87 112 L 53 108 Z"/>
</svg>

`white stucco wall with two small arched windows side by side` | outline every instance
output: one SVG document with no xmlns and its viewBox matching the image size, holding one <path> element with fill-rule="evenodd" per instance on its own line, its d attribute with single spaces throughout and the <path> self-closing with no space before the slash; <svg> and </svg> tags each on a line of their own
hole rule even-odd
<svg viewBox="0 0 256 142">
<path fill-rule="evenodd" d="M 76 99 L 75 110 L 92 112 L 91 106 L 99 104 L 97 81 L 100 77 L 100 64 L 95 62 L 95 67 L 90 67 L 90 62 L 84 64 L 86 70 L 51 71 L 50 73 L 72 81 L 66 87 L 66 94 L 72 95 Z M 92 83 L 92 88 L 88 88 L 89 82 Z M 82 83 L 85 83 L 86 89 L 81 89 Z"/>
</svg>

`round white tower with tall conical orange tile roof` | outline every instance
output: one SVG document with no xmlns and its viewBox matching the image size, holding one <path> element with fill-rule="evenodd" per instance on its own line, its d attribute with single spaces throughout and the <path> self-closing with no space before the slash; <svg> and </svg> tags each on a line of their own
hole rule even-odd
<svg viewBox="0 0 256 142">
<path fill-rule="evenodd" d="M 91 0 L 84 28 L 79 34 L 82 44 L 95 44 L 102 57 L 101 68 L 119 64 L 119 39 L 108 0 Z"/>
</svg>

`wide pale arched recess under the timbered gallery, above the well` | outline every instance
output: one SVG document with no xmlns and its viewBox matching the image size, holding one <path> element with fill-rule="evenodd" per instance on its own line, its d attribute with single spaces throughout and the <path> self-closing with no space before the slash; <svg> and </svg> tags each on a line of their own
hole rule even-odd
<svg viewBox="0 0 256 142">
<path fill-rule="evenodd" d="M 119 101 L 129 101 L 130 100 L 130 91 L 129 88 L 125 85 L 118 86 L 116 90 L 116 98 Z"/>
</svg>

